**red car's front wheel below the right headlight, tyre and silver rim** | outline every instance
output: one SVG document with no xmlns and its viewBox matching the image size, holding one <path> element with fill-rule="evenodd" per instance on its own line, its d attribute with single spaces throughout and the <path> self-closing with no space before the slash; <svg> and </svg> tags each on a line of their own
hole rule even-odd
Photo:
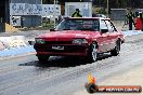
<svg viewBox="0 0 143 95">
<path fill-rule="evenodd" d="M 89 50 L 88 59 L 90 62 L 96 62 L 98 58 L 98 44 L 92 43 Z"/>
</svg>

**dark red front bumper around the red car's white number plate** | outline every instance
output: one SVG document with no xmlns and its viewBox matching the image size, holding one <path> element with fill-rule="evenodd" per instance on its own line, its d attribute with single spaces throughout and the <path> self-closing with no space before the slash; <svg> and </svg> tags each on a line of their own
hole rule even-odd
<svg viewBox="0 0 143 95">
<path fill-rule="evenodd" d="M 52 46 L 64 46 L 64 50 L 55 50 Z M 50 55 L 50 56 L 86 56 L 89 51 L 88 44 L 35 44 L 34 45 L 37 55 Z"/>
</svg>

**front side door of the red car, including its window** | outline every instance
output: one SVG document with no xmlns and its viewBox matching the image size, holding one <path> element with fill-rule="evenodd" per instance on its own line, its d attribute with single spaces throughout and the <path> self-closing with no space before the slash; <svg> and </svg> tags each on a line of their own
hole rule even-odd
<svg viewBox="0 0 143 95">
<path fill-rule="evenodd" d="M 104 19 L 101 19 L 100 22 L 100 31 L 102 29 L 108 29 Z M 108 37 L 108 32 L 101 32 L 101 37 L 99 38 L 100 39 L 99 48 L 101 52 L 107 52 L 108 50 L 107 49 L 107 44 L 108 44 L 107 37 Z"/>
</svg>

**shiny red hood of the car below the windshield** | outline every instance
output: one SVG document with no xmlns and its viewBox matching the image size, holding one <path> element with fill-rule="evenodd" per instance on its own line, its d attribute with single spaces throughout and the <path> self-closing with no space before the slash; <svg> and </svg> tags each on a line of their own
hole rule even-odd
<svg viewBox="0 0 143 95">
<path fill-rule="evenodd" d="M 75 38 L 86 38 L 86 39 L 90 39 L 93 36 L 98 36 L 99 32 L 98 31 L 86 31 L 86 30 L 63 30 L 63 31 L 50 31 L 48 33 L 44 35 L 40 35 L 37 38 L 43 38 L 46 40 L 60 40 L 60 41 L 64 41 L 64 40 L 72 40 Z"/>
</svg>

